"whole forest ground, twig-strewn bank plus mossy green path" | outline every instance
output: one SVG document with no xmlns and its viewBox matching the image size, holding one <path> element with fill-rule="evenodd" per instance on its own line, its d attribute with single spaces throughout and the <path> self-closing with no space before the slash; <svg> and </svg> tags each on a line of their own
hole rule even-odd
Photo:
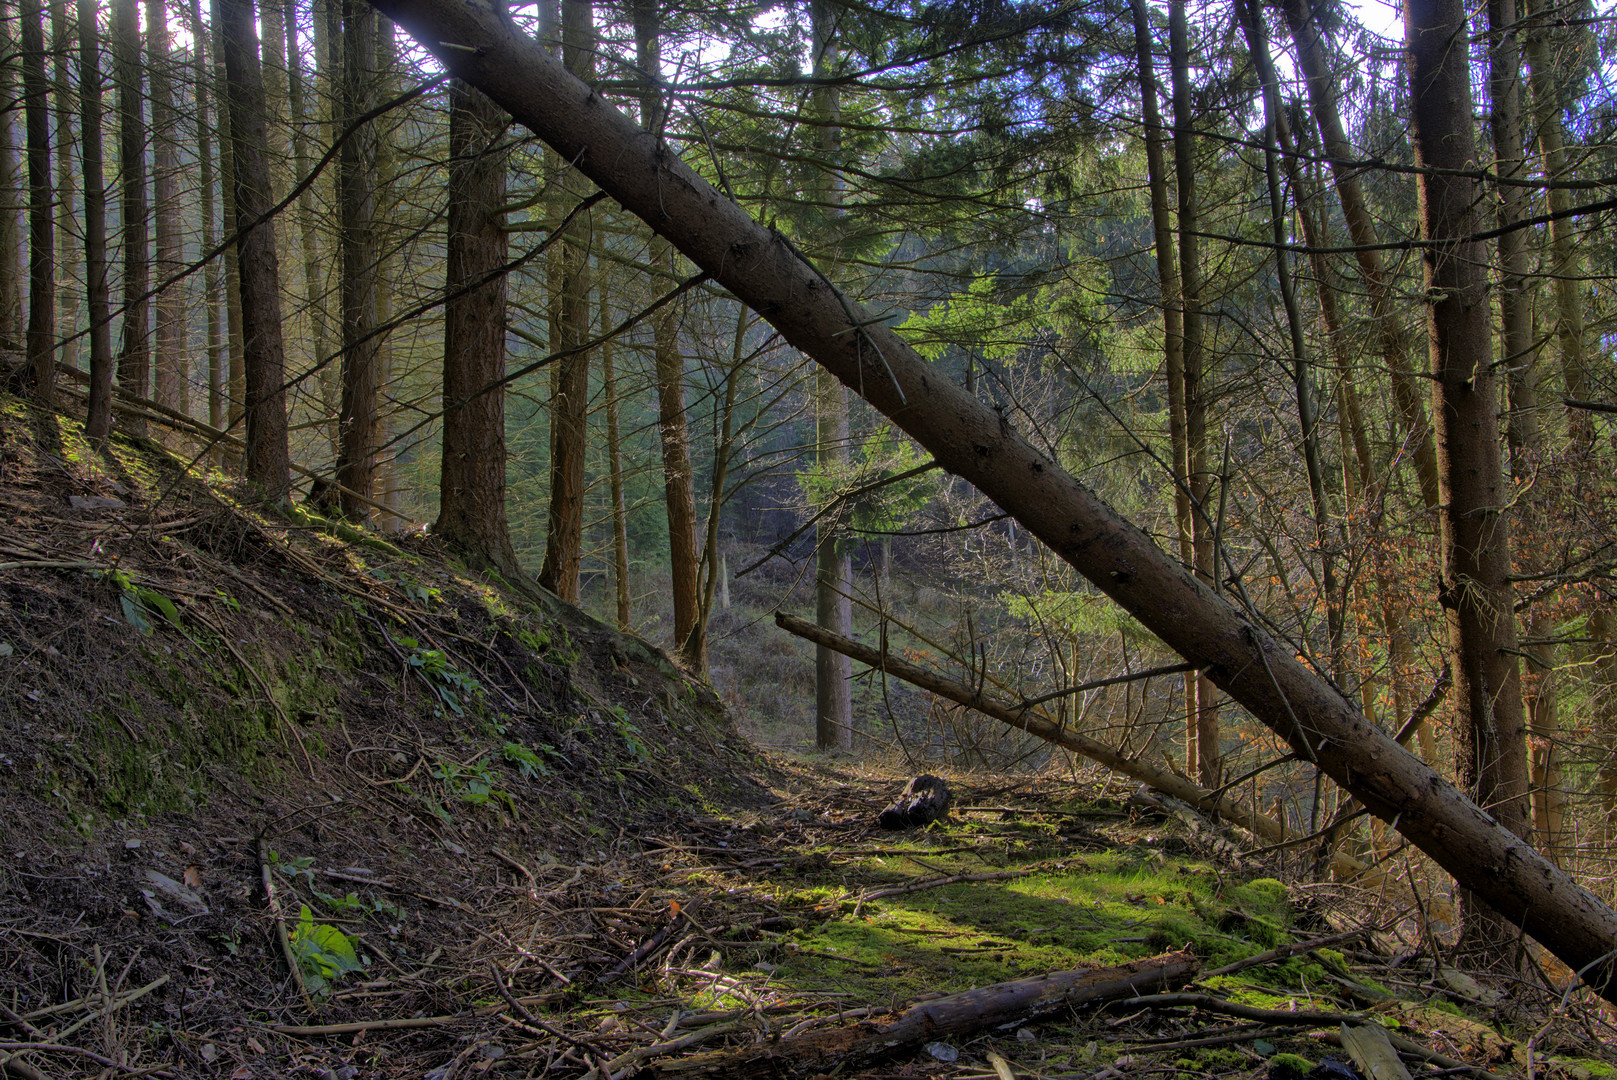
<svg viewBox="0 0 1617 1080">
<path fill-rule="evenodd" d="M 0 1075 L 1612 1074 L 1581 991 L 1295 854 L 1098 774 L 883 833 L 893 770 L 186 466 L 0 399 Z"/>
</svg>

